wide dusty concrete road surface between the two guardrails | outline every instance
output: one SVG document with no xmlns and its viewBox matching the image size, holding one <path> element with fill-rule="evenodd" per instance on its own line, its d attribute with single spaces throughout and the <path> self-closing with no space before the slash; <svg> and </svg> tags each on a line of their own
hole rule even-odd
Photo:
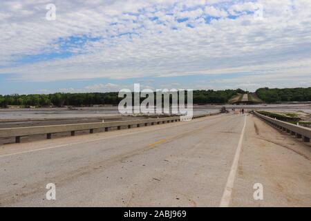
<svg viewBox="0 0 311 221">
<path fill-rule="evenodd" d="M 310 159 L 307 144 L 233 113 L 7 144 L 0 206 L 311 206 Z"/>
</svg>

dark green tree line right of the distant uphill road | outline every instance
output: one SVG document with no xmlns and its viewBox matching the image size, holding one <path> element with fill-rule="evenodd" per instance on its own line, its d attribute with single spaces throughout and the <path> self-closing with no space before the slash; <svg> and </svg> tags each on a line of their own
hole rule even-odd
<svg viewBox="0 0 311 221">
<path fill-rule="evenodd" d="M 310 102 L 309 88 L 259 88 L 256 95 L 267 103 L 275 102 Z"/>
</svg>

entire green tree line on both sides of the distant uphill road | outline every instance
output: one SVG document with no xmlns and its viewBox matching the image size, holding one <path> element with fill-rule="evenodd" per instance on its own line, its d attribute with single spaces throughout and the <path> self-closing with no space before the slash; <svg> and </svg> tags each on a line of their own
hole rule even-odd
<svg viewBox="0 0 311 221">
<path fill-rule="evenodd" d="M 194 90 L 194 104 L 225 104 L 234 95 L 247 93 L 244 90 Z M 109 93 L 53 93 L 48 95 L 0 95 L 0 107 L 16 105 L 36 106 L 92 106 L 117 105 L 123 99 L 117 92 Z M 263 102 L 310 102 L 309 88 L 259 88 L 256 95 Z M 142 98 L 141 100 L 143 100 Z"/>
</svg>

